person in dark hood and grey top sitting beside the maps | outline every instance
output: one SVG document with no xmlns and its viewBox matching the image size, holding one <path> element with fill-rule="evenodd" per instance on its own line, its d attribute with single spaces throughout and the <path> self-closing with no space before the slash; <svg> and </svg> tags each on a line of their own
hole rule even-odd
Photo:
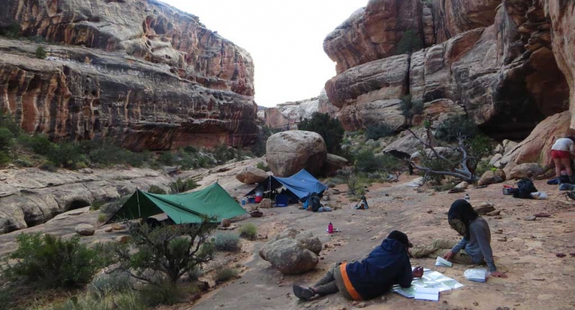
<svg viewBox="0 0 575 310">
<path fill-rule="evenodd" d="M 447 215 L 449 226 L 463 238 L 460 242 L 436 239 L 431 245 L 413 247 L 409 254 L 414 258 L 442 256 L 462 265 L 482 265 L 487 263 L 491 276 L 507 278 L 497 271 L 491 250 L 491 231 L 487 221 L 477 214 L 467 200 L 459 199 L 451 204 Z"/>
</svg>

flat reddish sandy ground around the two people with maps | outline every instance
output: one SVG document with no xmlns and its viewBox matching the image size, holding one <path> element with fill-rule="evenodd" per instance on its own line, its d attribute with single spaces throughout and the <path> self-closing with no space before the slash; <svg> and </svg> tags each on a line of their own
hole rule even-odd
<svg viewBox="0 0 575 310">
<path fill-rule="evenodd" d="M 218 176 L 220 178 L 227 176 Z M 335 262 L 351 261 L 368 254 L 380 244 L 389 231 L 405 231 L 414 245 L 431 242 L 433 238 L 459 239 L 447 223 L 449 205 L 465 194 L 418 192 L 404 179 L 393 185 L 373 185 L 367 194 L 370 209 L 355 210 L 355 201 L 344 194 L 332 195 L 330 205 L 341 207 L 333 212 L 313 214 L 290 206 L 262 209 L 264 217 L 248 218 L 241 223 L 255 223 L 262 235 L 256 242 L 244 242 L 242 254 L 230 260 L 242 265 L 242 277 L 216 287 L 195 304 L 180 304 L 162 309 L 575 309 L 575 203 L 568 201 L 557 187 L 536 181 L 536 187 L 549 194 L 549 200 L 520 200 L 501 194 L 501 185 L 484 189 L 467 189 L 471 203 L 494 203 L 501 210 L 499 217 L 484 216 L 491 227 L 491 246 L 496 265 L 509 275 L 507 279 L 489 278 L 486 283 L 470 282 L 463 277 L 469 266 L 453 268 L 435 267 L 433 258 L 413 259 L 413 266 L 421 265 L 438 270 L 465 285 L 460 289 L 443 292 L 439 302 L 409 300 L 394 293 L 382 298 L 357 304 L 344 300 L 338 294 L 300 302 L 293 296 L 291 285 L 311 285 Z M 225 183 L 220 179 L 220 183 Z M 513 184 L 507 182 L 507 184 Z M 228 186 L 232 187 L 233 182 Z M 339 185 L 344 189 L 344 185 Z M 235 192 L 243 192 L 242 185 Z M 230 191 L 230 188 L 226 188 Z M 235 193 L 234 192 L 234 193 Z M 388 194 L 388 196 L 386 196 Z M 236 196 L 236 195 L 233 195 Z M 539 212 L 551 214 L 549 218 L 534 221 L 525 216 Z M 95 213 L 82 214 L 59 223 L 32 227 L 24 231 L 46 231 L 55 234 L 72 234 L 78 223 L 95 223 Z M 331 222 L 340 229 L 337 234 L 326 233 Z M 272 236 L 286 227 L 311 230 L 328 245 L 320 254 L 318 266 L 300 276 L 282 276 L 262 260 L 257 251 Z M 495 234 L 503 229 L 503 234 Z M 0 236 L 0 254 L 14 248 L 16 231 Z M 95 236 L 83 237 L 86 241 L 115 238 L 99 230 Z M 505 236 L 506 242 L 498 241 Z M 565 258 L 557 253 L 567 254 Z"/>
</svg>

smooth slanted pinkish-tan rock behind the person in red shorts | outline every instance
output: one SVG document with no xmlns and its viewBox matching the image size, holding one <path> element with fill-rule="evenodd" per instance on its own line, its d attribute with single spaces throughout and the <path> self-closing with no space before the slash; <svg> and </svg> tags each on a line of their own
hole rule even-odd
<svg viewBox="0 0 575 310">
<path fill-rule="evenodd" d="M 511 148 L 500 160 L 505 165 L 507 175 L 511 176 L 511 170 L 521 163 L 538 163 L 543 167 L 551 167 L 551 147 L 555 141 L 575 132 L 569 129 L 571 118 L 571 113 L 565 111 L 539 123 L 525 140 Z"/>
</svg>

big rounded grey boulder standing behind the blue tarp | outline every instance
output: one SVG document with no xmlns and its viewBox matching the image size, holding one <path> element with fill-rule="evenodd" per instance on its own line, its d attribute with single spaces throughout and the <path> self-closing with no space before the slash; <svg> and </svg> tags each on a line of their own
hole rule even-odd
<svg viewBox="0 0 575 310">
<path fill-rule="evenodd" d="M 266 161 L 275 176 L 292 176 L 301 169 L 318 174 L 326 157 L 324 139 L 315 132 L 279 132 L 266 144 Z"/>
</svg>

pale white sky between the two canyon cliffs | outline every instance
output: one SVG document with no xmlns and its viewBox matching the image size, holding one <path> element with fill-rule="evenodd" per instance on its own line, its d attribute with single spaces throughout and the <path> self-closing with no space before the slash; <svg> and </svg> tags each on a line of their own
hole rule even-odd
<svg viewBox="0 0 575 310">
<path fill-rule="evenodd" d="M 335 75 L 324 38 L 367 0 L 163 0 L 246 49 L 255 101 L 271 107 L 318 96 Z"/>
</svg>

